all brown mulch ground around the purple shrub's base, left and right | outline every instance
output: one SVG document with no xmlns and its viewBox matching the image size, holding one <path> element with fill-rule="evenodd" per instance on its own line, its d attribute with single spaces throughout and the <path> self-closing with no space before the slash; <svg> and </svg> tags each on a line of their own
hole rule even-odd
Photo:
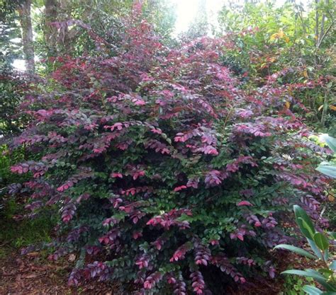
<svg viewBox="0 0 336 295">
<path fill-rule="evenodd" d="M 82 287 L 68 287 L 67 276 L 72 269 L 72 262 L 62 260 L 50 262 L 40 253 L 20 255 L 17 250 L 7 250 L 8 255 L 0 258 L 0 294 L 1 295 L 116 295 L 118 287 L 102 282 L 89 282 Z M 288 252 L 274 253 L 281 255 L 277 261 L 279 272 L 286 270 L 289 263 L 294 268 L 316 267 L 309 265 L 306 258 Z M 294 265 L 293 265 L 294 264 Z M 284 279 L 261 279 L 247 282 L 237 287 L 223 290 L 227 295 L 277 295 L 281 291 Z M 120 294 L 120 293 L 119 293 Z"/>
</svg>

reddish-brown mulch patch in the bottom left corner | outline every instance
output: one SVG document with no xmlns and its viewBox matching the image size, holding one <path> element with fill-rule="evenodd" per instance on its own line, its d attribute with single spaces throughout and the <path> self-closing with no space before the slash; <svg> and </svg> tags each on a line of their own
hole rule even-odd
<svg viewBox="0 0 336 295">
<path fill-rule="evenodd" d="M 67 286 L 71 265 L 67 261 L 49 262 L 39 253 L 23 256 L 8 251 L 0 258 L 1 295 L 113 295 L 113 286 L 99 282 L 76 289 Z"/>
</svg>

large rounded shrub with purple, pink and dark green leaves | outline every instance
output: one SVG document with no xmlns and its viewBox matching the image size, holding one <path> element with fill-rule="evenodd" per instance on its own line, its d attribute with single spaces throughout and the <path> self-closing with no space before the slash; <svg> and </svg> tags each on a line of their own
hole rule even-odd
<svg viewBox="0 0 336 295">
<path fill-rule="evenodd" d="M 219 62 L 225 38 L 169 50 L 133 19 L 124 42 L 116 57 L 65 60 L 57 91 L 22 105 L 35 122 L 14 146 L 41 158 L 11 170 L 32 175 L 28 209 L 60 208 L 50 258 L 78 251 L 70 284 L 115 279 L 139 294 L 211 294 L 209 272 L 274 277 L 267 249 L 288 241 L 291 204 L 327 223 L 328 178 L 312 164 L 324 149 L 286 107 L 306 86 L 243 91 Z"/>
</svg>

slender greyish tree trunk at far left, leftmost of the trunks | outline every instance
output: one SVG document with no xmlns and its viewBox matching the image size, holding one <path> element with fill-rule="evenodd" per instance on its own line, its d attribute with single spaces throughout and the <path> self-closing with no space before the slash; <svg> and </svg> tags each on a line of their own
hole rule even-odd
<svg viewBox="0 0 336 295">
<path fill-rule="evenodd" d="M 25 0 L 18 8 L 20 24 L 22 30 L 23 54 L 26 61 L 26 71 L 33 74 L 35 72 L 35 52 L 33 42 L 33 27 L 30 17 L 31 0 Z"/>
</svg>

